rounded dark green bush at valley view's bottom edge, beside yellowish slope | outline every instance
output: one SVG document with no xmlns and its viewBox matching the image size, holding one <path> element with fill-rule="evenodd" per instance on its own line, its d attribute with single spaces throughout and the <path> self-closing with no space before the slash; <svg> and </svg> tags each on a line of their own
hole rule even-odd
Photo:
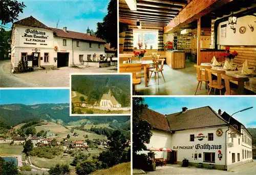
<svg viewBox="0 0 256 175">
<path fill-rule="evenodd" d="M 76 166 L 76 173 L 78 175 L 87 175 L 97 170 L 96 164 L 92 161 L 83 161 Z"/>
</svg>

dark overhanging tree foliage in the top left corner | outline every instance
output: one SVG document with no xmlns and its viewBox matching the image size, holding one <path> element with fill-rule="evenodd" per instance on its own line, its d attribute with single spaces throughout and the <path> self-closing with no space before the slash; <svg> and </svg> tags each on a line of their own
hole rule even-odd
<svg viewBox="0 0 256 175">
<path fill-rule="evenodd" d="M 1 0 L 0 1 L 0 20 L 2 25 L 7 23 L 13 23 L 15 20 L 18 20 L 18 14 L 23 13 L 23 8 L 26 5 L 22 2 L 19 3 L 16 0 Z"/>
</svg>

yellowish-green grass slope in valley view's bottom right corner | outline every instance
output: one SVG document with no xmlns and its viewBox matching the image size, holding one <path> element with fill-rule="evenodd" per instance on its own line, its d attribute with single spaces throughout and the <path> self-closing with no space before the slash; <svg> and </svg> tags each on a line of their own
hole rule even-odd
<svg viewBox="0 0 256 175">
<path fill-rule="evenodd" d="M 92 175 L 112 175 L 112 174 L 131 174 L 131 162 L 121 163 L 108 169 L 100 169 L 92 173 Z"/>
</svg>

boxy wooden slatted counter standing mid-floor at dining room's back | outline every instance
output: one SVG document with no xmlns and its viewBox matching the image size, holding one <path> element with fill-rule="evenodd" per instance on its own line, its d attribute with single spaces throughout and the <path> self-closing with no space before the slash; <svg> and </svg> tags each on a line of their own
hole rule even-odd
<svg viewBox="0 0 256 175">
<path fill-rule="evenodd" d="M 185 68 L 185 52 L 184 51 L 166 51 L 166 64 L 172 69 Z"/>
</svg>

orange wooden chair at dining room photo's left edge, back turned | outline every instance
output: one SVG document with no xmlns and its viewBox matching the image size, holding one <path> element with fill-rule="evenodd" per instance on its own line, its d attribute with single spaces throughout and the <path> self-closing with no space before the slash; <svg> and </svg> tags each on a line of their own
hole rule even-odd
<svg viewBox="0 0 256 175">
<path fill-rule="evenodd" d="M 120 64 L 119 71 L 126 72 L 126 73 L 133 73 L 133 94 L 135 95 L 135 85 L 138 85 L 141 83 L 141 78 L 136 77 L 136 73 L 141 72 L 141 63 Z"/>
</svg>

